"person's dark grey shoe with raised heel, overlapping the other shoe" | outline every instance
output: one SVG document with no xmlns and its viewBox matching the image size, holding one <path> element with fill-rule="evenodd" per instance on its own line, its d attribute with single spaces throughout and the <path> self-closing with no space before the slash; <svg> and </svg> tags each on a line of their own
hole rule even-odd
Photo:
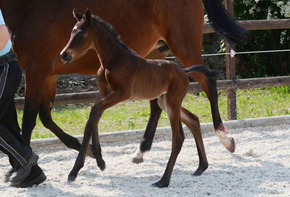
<svg viewBox="0 0 290 197">
<path fill-rule="evenodd" d="M 11 184 L 14 185 L 23 181 L 29 175 L 31 167 L 37 163 L 37 160 L 38 155 L 32 152 L 32 155 L 29 157 L 27 163 L 22 167 L 16 168 L 10 176 L 9 181 Z"/>
</svg>

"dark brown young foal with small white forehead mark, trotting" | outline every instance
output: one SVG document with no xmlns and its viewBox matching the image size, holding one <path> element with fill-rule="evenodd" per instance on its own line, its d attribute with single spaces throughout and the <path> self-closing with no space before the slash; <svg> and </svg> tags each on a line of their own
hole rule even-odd
<svg viewBox="0 0 290 197">
<path fill-rule="evenodd" d="M 198 117 L 181 106 L 187 94 L 189 81 L 187 73 L 202 72 L 207 77 L 215 78 L 216 72 L 203 65 L 180 68 L 172 61 L 146 60 L 134 53 L 119 38 L 114 28 L 87 9 L 83 15 L 75 12 L 78 20 L 72 30 L 71 38 L 60 53 L 64 63 L 70 63 L 84 54 L 88 49 L 95 49 L 101 67 L 97 72 L 99 94 L 87 121 L 83 143 L 75 165 L 68 175 L 68 182 L 74 181 L 83 167 L 89 141 L 92 136 L 92 152 L 97 164 L 103 171 L 105 162 L 102 159 L 98 135 L 98 123 L 102 113 L 115 104 L 125 100 L 156 99 L 160 108 L 167 112 L 172 128 L 172 152 L 164 175 L 153 186 L 169 185 L 173 166 L 184 142 L 181 121 L 191 130 L 199 155 L 199 167 L 194 175 L 201 175 L 208 163 L 203 146 Z M 157 117 L 159 118 L 159 117 Z"/>
</svg>

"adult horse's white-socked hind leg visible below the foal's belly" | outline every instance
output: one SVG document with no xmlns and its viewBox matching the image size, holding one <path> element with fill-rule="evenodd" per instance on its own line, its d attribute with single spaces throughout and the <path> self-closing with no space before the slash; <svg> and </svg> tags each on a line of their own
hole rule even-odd
<svg viewBox="0 0 290 197">
<path fill-rule="evenodd" d="M 150 108 L 151 113 L 143 139 L 140 142 L 139 149 L 135 152 L 135 154 L 132 157 L 132 162 L 135 164 L 140 164 L 141 162 L 143 162 L 144 154 L 146 152 L 149 152 L 152 146 L 158 120 L 162 112 L 162 109 L 158 106 L 157 99 L 150 100 Z"/>
</svg>

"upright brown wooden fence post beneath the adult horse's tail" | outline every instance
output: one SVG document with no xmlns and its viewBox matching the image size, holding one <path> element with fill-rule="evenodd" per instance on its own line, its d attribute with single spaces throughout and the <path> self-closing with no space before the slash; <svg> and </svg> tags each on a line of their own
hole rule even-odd
<svg viewBox="0 0 290 197">
<path fill-rule="evenodd" d="M 225 0 L 225 7 L 229 14 L 234 16 L 234 3 L 232 0 Z M 226 53 L 230 53 L 230 47 L 226 47 Z M 233 49 L 234 50 L 234 49 Z M 226 55 L 226 79 L 236 79 L 235 57 Z M 227 114 L 228 120 L 237 120 L 236 91 L 227 90 Z"/>
</svg>

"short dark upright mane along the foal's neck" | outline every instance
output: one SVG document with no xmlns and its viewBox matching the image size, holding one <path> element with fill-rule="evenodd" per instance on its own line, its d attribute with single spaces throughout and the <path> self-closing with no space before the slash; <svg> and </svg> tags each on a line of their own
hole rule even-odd
<svg viewBox="0 0 290 197">
<path fill-rule="evenodd" d="M 122 42 L 122 40 L 120 39 L 121 36 L 119 36 L 115 28 L 110 23 L 104 21 L 101 17 L 95 15 L 92 15 L 92 19 L 94 22 L 100 24 L 105 30 L 107 30 L 124 49 L 130 51 L 131 53 L 136 53 L 135 51 L 133 51 L 133 49 L 127 46 L 124 42 Z"/>
</svg>

